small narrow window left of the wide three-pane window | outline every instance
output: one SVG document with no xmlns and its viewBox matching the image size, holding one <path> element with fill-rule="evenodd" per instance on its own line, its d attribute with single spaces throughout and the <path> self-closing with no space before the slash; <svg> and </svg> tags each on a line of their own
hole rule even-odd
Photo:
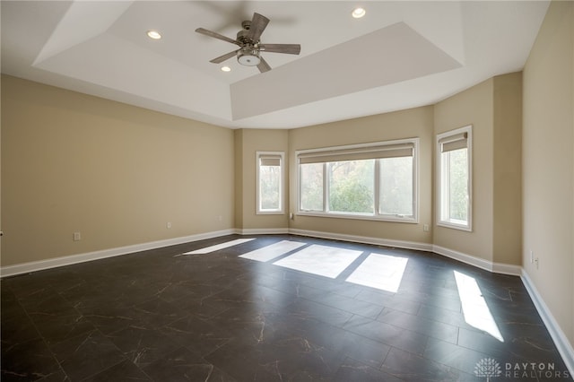
<svg viewBox="0 0 574 382">
<path fill-rule="evenodd" d="M 257 152 L 257 213 L 283 213 L 283 152 Z"/>
</svg>

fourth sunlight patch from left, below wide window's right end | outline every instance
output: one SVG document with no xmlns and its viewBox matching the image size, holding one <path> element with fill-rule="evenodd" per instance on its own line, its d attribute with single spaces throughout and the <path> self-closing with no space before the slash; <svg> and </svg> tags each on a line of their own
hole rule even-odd
<svg viewBox="0 0 574 382">
<path fill-rule="evenodd" d="M 396 293 L 408 261 L 406 257 L 370 254 L 346 281 Z"/>
</svg>

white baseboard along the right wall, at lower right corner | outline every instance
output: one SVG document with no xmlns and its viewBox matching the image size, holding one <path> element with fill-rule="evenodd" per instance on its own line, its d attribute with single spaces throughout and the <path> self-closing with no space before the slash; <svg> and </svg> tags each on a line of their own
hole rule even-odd
<svg viewBox="0 0 574 382">
<path fill-rule="evenodd" d="M 548 329 L 548 332 L 550 333 L 550 336 L 552 337 L 558 352 L 560 352 L 562 360 L 570 371 L 570 376 L 574 376 L 574 349 L 572 348 L 568 337 L 566 337 L 566 334 L 562 332 L 561 327 L 556 322 L 556 319 L 552 316 L 550 309 L 544 302 L 540 293 L 538 293 L 538 290 L 536 290 L 534 282 L 532 282 L 530 276 L 528 276 L 528 273 L 526 273 L 524 268 L 522 269 L 520 278 L 522 279 L 522 283 L 526 287 L 526 291 L 528 291 L 530 298 L 534 302 L 535 308 L 538 310 L 538 314 L 540 317 L 542 317 L 544 326 L 546 326 Z"/>
</svg>

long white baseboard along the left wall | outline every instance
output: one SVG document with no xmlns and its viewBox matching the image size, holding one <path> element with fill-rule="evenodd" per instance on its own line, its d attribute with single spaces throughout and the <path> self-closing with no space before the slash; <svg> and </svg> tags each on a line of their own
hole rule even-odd
<svg viewBox="0 0 574 382">
<path fill-rule="evenodd" d="M 103 249 L 100 251 L 93 251 L 79 255 L 61 256 L 61 257 L 49 258 L 47 260 L 32 261 L 29 263 L 22 263 L 17 265 L 8 265 L 0 267 L 0 277 L 36 272 L 44 269 L 56 268 L 57 266 L 84 263 L 86 261 L 98 260 L 100 258 L 127 255 L 130 253 L 141 252 L 148 249 L 175 246 L 178 244 L 184 244 L 197 240 L 212 239 L 220 236 L 232 235 L 234 233 L 237 233 L 237 230 L 218 230 L 213 232 L 199 233 L 196 235 L 184 236 L 180 238 L 151 241 L 148 243 L 135 244 L 126 247 Z"/>
</svg>

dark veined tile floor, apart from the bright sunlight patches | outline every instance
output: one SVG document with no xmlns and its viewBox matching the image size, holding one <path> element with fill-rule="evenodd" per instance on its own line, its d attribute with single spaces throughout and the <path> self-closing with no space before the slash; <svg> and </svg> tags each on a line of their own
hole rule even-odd
<svg viewBox="0 0 574 382">
<path fill-rule="evenodd" d="M 177 256 L 237 238 L 2 280 L 2 380 L 569 379 L 517 277 L 287 235 Z M 363 254 L 336 279 L 239 257 L 283 239 Z M 396 293 L 345 282 L 370 253 L 408 257 Z M 466 323 L 454 271 L 476 281 L 502 342 Z"/>
</svg>

